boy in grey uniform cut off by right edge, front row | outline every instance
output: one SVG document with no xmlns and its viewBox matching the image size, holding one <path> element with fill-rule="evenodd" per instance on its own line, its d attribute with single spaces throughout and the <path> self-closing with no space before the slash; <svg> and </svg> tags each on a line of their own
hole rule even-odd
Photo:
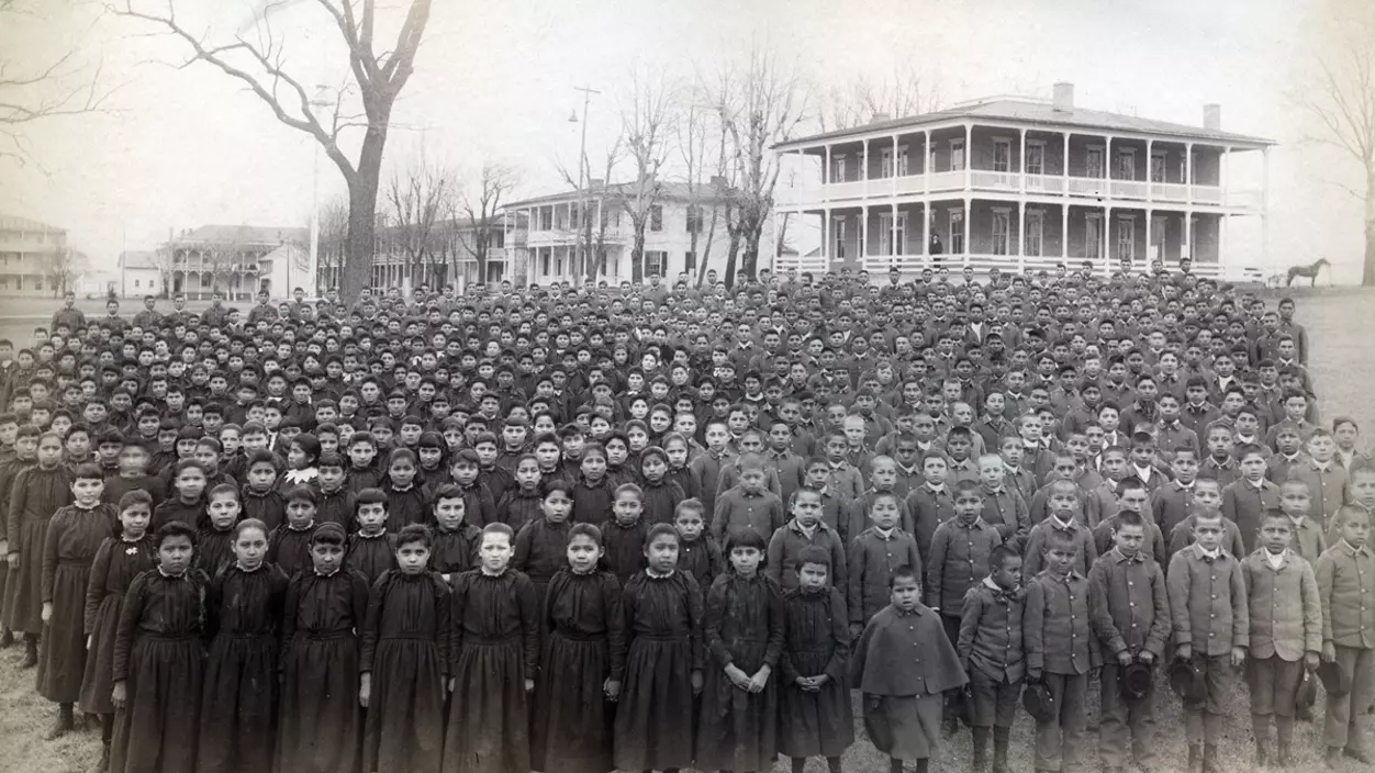
<svg viewBox="0 0 1375 773">
<path fill-rule="evenodd" d="M 1371 763 L 1371 748 L 1361 728 L 1361 708 L 1375 700 L 1375 556 L 1367 545 L 1371 516 L 1348 505 L 1336 512 L 1338 539 L 1313 565 L 1323 602 L 1323 662 L 1335 663 L 1352 677 L 1352 690 L 1327 692 L 1323 744 L 1327 765 L 1342 755 Z"/>
</svg>

